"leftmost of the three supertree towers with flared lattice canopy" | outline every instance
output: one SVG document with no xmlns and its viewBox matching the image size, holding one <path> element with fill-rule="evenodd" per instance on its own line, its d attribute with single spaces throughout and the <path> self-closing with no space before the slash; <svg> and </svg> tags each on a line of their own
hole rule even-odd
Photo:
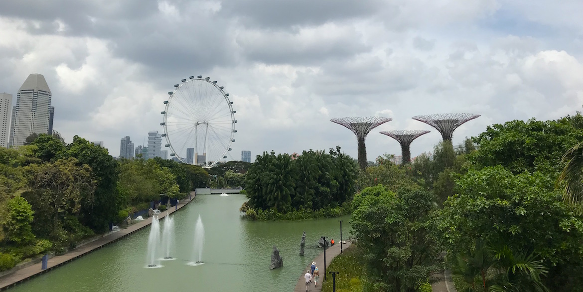
<svg viewBox="0 0 583 292">
<path fill-rule="evenodd" d="M 330 120 L 336 124 L 343 125 L 352 131 L 356 135 L 356 140 L 359 142 L 359 166 L 362 170 L 366 169 L 366 145 L 364 145 L 364 140 L 366 140 L 366 135 L 370 133 L 374 128 L 385 124 L 385 122 L 392 121 L 392 118 L 384 117 L 346 117 L 346 118 L 333 118 Z"/>
</svg>

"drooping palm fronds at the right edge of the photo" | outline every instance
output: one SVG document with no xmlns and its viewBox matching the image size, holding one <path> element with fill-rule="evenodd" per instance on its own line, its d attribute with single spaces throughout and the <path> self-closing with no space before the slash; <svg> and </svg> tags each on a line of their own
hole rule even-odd
<svg viewBox="0 0 583 292">
<path fill-rule="evenodd" d="M 559 177 L 564 187 L 563 200 L 583 213 L 583 142 L 569 149 L 563 156 L 566 163 Z"/>
</svg>

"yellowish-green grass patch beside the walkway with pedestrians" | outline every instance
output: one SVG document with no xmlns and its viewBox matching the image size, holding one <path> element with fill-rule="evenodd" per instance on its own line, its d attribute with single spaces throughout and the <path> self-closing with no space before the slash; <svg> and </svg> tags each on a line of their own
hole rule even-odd
<svg viewBox="0 0 583 292">
<path fill-rule="evenodd" d="M 336 275 L 336 292 L 363 291 L 364 263 L 361 259 L 362 256 L 358 247 L 351 245 L 332 260 L 326 270 L 339 272 Z M 328 274 L 326 277 L 327 279 L 322 285 L 322 291 L 332 292 L 332 275 Z M 320 278 L 324 279 L 324 275 L 321 275 Z"/>
</svg>

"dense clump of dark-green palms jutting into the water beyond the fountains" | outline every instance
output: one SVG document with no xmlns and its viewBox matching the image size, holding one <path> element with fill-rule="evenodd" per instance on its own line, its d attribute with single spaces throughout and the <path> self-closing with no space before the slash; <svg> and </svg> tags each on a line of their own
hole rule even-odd
<svg viewBox="0 0 583 292">
<path fill-rule="evenodd" d="M 329 153 L 304 151 L 295 160 L 264 152 L 245 174 L 245 210 L 287 213 L 342 206 L 356 191 L 357 174 L 356 163 L 340 147 Z"/>
</svg>

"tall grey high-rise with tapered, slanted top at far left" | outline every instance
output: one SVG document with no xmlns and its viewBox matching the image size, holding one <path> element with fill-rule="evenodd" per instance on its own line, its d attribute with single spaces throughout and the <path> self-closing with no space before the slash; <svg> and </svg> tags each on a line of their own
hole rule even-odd
<svg viewBox="0 0 583 292">
<path fill-rule="evenodd" d="M 32 133 L 48 133 L 51 112 L 51 90 L 43 75 L 30 74 L 16 94 L 10 146 L 24 145 Z"/>
</svg>

